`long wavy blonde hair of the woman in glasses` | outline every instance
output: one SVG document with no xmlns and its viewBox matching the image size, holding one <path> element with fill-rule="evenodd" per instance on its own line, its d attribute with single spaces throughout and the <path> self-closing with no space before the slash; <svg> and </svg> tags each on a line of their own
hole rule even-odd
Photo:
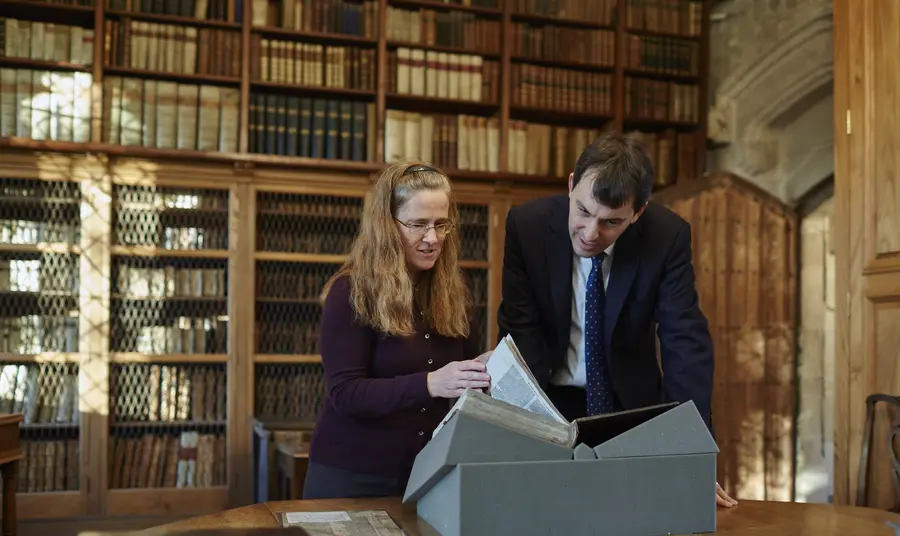
<svg viewBox="0 0 900 536">
<path fill-rule="evenodd" d="M 379 173 L 371 199 L 363 209 L 350 256 L 325 284 L 322 303 L 332 284 L 346 275 L 350 278 L 350 301 L 362 323 L 395 336 L 411 335 L 415 299 L 431 329 L 448 337 L 467 337 L 472 298 L 459 269 L 459 208 L 453 187 L 447 176 L 437 170 L 406 173 L 415 165 L 427 166 L 404 162 Z M 444 238 L 434 267 L 421 274 L 415 293 L 394 217 L 415 193 L 424 190 L 446 192 L 450 201 L 448 216 L 454 228 Z"/>
</svg>

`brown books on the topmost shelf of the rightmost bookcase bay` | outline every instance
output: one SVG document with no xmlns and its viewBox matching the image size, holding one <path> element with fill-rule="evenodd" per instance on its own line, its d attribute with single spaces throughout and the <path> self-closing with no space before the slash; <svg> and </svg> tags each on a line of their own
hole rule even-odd
<svg viewBox="0 0 900 536">
<path fill-rule="evenodd" d="M 695 37 L 702 28 L 703 0 L 628 0 L 625 20 L 629 28 Z"/>
</svg>

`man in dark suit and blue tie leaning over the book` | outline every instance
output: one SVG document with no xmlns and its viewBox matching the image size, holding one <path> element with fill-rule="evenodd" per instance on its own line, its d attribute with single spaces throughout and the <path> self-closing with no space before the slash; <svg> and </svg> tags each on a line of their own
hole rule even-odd
<svg viewBox="0 0 900 536">
<path fill-rule="evenodd" d="M 512 335 L 569 420 L 693 400 L 712 431 L 712 340 L 694 287 L 691 230 L 650 202 L 652 186 L 639 142 L 606 133 L 579 157 L 568 196 L 513 208 L 500 337 Z M 718 504 L 737 504 L 716 488 Z"/>
</svg>

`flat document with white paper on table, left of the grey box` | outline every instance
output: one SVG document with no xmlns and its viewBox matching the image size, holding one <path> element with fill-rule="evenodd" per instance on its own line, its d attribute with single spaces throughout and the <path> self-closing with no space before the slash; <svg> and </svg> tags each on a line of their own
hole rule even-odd
<svg viewBox="0 0 900 536">
<path fill-rule="evenodd" d="M 406 536 L 384 510 L 285 512 L 282 527 L 300 527 L 310 536 Z"/>
</svg>

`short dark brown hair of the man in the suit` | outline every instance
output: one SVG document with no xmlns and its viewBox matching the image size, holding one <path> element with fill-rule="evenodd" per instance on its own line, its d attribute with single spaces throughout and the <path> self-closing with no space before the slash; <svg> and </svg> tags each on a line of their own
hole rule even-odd
<svg viewBox="0 0 900 536">
<path fill-rule="evenodd" d="M 582 179 L 593 181 L 591 196 L 598 203 L 620 208 L 632 201 L 637 211 L 653 191 L 653 162 L 640 141 L 609 131 L 578 157 L 572 188 Z"/>
</svg>

